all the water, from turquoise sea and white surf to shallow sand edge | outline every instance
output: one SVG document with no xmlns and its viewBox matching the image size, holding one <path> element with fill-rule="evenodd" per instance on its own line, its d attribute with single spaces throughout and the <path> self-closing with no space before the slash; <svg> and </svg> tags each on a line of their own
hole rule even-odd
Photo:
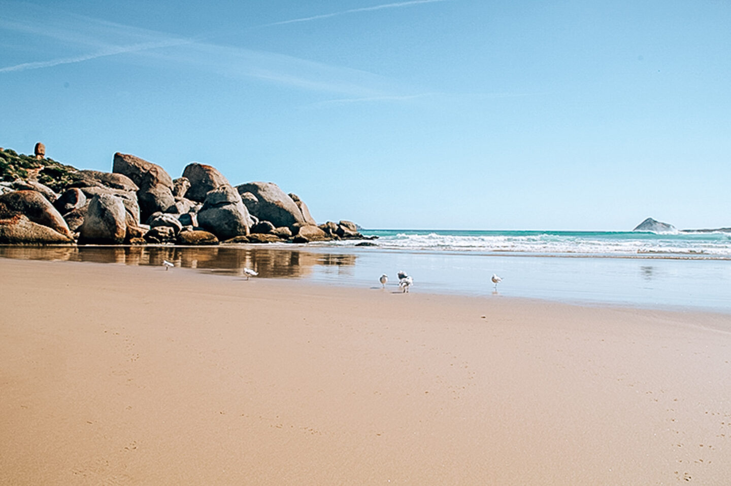
<svg viewBox="0 0 731 486">
<path fill-rule="evenodd" d="M 731 312 L 731 233 L 362 230 L 360 240 L 218 247 L 0 247 L 0 257 L 176 266 L 398 292 Z M 173 269 L 175 271 L 175 269 Z M 389 276 L 385 290 L 378 278 Z M 503 281 L 497 289 L 492 274 Z"/>
</svg>

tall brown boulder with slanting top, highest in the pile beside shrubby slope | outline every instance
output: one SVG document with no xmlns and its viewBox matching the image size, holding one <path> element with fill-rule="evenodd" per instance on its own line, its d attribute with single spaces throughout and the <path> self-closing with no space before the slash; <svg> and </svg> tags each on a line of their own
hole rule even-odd
<svg viewBox="0 0 731 486">
<path fill-rule="evenodd" d="M 140 204 L 141 220 L 175 204 L 173 179 L 156 163 L 135 155 L 115 153 L 112 171 L 126 175 L 140 188 L 137 190 L 137 201 Z"/>
</svg>

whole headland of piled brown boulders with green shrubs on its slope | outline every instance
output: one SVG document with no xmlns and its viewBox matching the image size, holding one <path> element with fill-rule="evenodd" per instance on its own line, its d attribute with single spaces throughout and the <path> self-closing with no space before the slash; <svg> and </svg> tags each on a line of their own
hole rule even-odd
<svg viewBox="0 0 731 486">
<path fill-rule="evenodd" d="M 231 185 L 189 163 L 161 166 L 115 153 L 111 172 L 76 169 L 0 148 L 0 244 L 306 243 L 368 239 L 348 220 L 318 225 L 304 201 L 273 182 Z"/>
</svg>

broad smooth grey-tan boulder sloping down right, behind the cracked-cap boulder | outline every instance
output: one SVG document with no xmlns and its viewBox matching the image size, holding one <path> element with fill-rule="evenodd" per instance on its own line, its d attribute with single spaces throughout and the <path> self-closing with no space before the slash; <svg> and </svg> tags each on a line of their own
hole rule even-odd
<svg viewBox="0 0 731 486">
<path fill-rule="evenodd" d="M 269 221 L 275 227 L 287 226 L 293 232 L 298 225 L 309 224 L 295 201 L 273 182 L 248 182 L 237 185 L 236 190 L 239 194 L 251 193 L 256 198 L 256 204 L 252 204 L 252 214 L 260 221 Z M 246 199 L 253 201 L 249 195 Z M 250 203 L 246 204 L 248 207 Z"/>
</svg>

